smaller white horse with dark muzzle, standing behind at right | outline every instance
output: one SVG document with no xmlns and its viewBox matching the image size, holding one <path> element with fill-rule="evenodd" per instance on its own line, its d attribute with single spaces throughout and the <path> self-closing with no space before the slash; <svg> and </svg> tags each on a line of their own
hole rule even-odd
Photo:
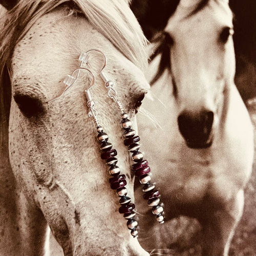
<svg viewBox="0 0 256 256">
<path fill-rule="evenodd" d="M 159 63 L 164 72 L 151 88 L 155 100 L 142 106 L 161 128 L 144 115 L 138 128 L 165 224 L 146 211 L 139 185 L 135 194 L 145 232 L 139 241 L 153 254 L 172 248 L 172 218 L 183 215 L 201 223 L 203 256 L 228 255 L 253 159 L 252 125 L 233 82 L 232 33 L 228 1 L 181 0 L 153 43 L 148 77 L 154 79 Z"/>
</svg>

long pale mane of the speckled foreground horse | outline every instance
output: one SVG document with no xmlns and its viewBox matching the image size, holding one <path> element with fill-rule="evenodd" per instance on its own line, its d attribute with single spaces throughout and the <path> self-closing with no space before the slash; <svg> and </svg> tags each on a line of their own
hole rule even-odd
<svg viewBox="0 0 256 256">
<path fill-rule="evenodd" d="M 10 82 L 7 81 L 6 74 L 8 74 L 7 67 L 10 67 L 9 62 L 15 45 L 38 18 L 65 4 L 70 8 L 71 14 L 74 12 L 82 13 L 102 35 L 109 39 L 136 66 L 142 70 L 147 66 L 147 40 L 126 0 L 19 1 L 10 12 L 0 17 L 0 24 L 3 26 L 0 35 L 0 127 L 3 122 L 9 119 L 7 106 L 9 107 L 10 104 L 7 98 L 10 100 L 10 97 L 7 97 L 5 91 L 10 91 L 10 89 L 6 89 L 6 87 L 10 87 Z"/>
</svg>

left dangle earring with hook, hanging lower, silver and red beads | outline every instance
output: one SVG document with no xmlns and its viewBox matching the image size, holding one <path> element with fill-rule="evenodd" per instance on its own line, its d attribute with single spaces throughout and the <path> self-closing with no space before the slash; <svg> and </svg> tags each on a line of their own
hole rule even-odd
<svg viewBox="0 0 256 256">
<path fill-rule="evenodd" d="M 84 59 L 86 60 L 86 59 Z M 83 60 L 83 61 L 84 61 Z M 89 117 L 93 119 L 96 130 L 97 130 L 97 139 L 99 143 L 101 144 L 100 150 L 101 150 L 101 159 L 105 160 L 106 165 L 109 166 L 109 173 L 112 176 L 112 178 L 109 179 L 110 187 L 114 190 L 116 190 L 116 193 L 118 195 L 119 204 L 121 205 L 119 208 L 119 213 L 123 214 L 123 217 L 127 220 L 127 228 L 131 230 L 131 234 L 134 238 L 138 237 L 138 222 L 134 219 L 136 213 L 133 211 L 135 208 L 135 205 L 131 203 L 131 198 L 127 197 L 127 189 L 125 188 L 125 185 L 127 184 L 125 180 L 125 175 L 120 175 L 120 168 L 116 165 L 118 162 L 117 151 L 115 149 L 112 149 L 113 145 L 109 142 L 109 136 L 108 134 L 103 132 L 103 128 L 100 126 L 98 118 L 97 118 L 97 111 L 95 110 L 95 101 L 92 99 L 91 94 L 91 88 L 93 87 L 95 83 L 95 76 L 94 74 L 86 68 L 82 67 L 81 61 L 80 67 L 76 69 L 72 75 L 67 75 L 65 80 L 63 81 L 66 84 L 66 89 L 63 91 L 63 93 L 58 96 L 57 98 L 50 100 L 50 102 L 62 97 L 71 87 L 74 86 L 75 82 L 78 79 L 78 76 L 81 72 L 81 70 L 87 70 L 93 77 L 92 84 L 89 87 L 89 89 L 84 90 L 84 93 L 86 94 L 87 98 L 87 106 L 89 108 Z"/>
</svg>

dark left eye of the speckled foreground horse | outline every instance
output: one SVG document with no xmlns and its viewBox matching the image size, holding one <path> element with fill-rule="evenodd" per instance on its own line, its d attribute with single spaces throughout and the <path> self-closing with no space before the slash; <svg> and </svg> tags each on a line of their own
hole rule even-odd
<svg viewBox="0 0 256 256">
<path fill-rule="evenodd" d="M 22 94 L 16 94 L 13 98 L 20 111 L 22 111 L 26 117 L 36 116 L 44 112 L 44 108 L 40 100 L 36 98 Z"/>
</svg>

